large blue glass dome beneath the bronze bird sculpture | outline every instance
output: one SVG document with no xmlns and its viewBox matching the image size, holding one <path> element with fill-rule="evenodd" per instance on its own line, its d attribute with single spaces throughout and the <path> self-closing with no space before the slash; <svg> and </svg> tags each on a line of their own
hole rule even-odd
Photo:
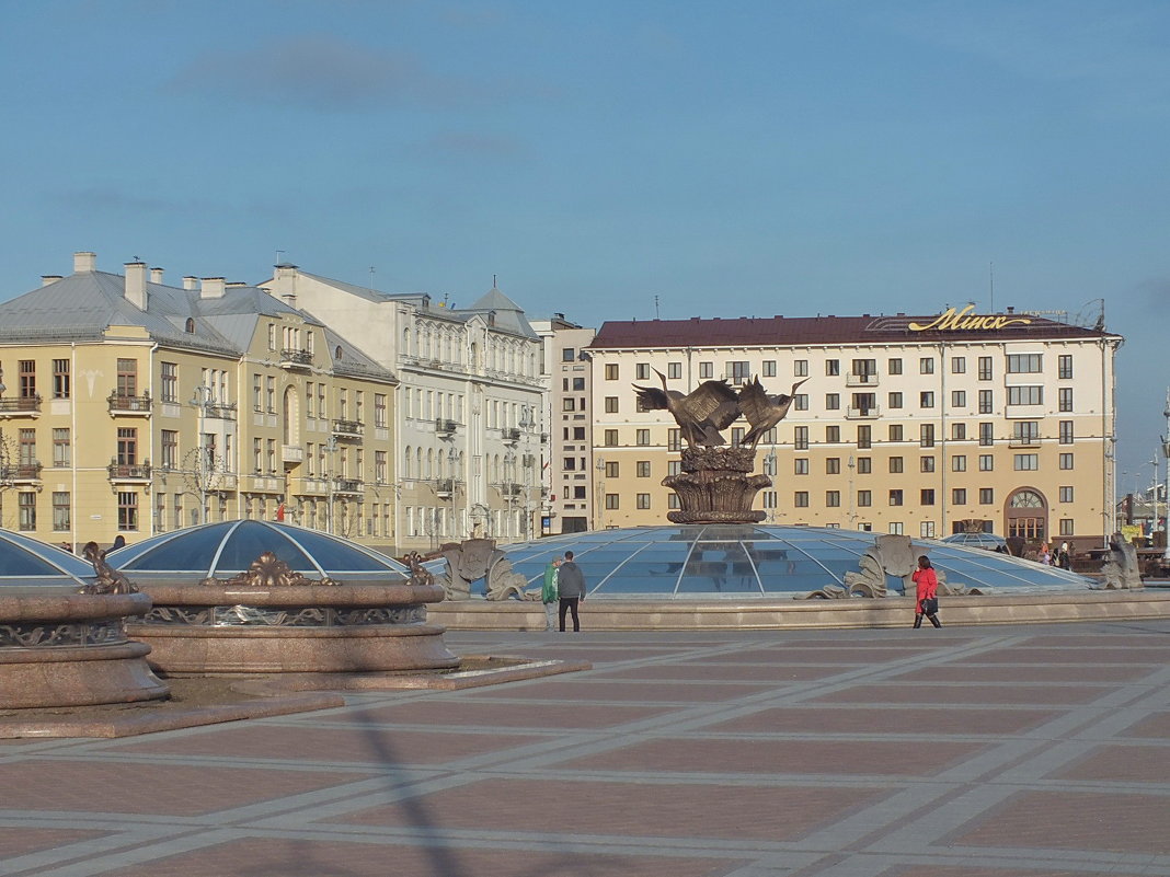
<svg viewBox="0 0 1170 877">
<path fill-rule="evenodd" d="M 565 551 L 585 574 L 590 596 L 711 598 L 799 596 L 845 585 L 879 534 L 855 530 L 763 524 L 690 524 L 622 527 L 500 546 L 512 568 L 532 583 Z M 915 539 L 950 585 L 985 594 L 1087 591 L 1090 579 L 983 548 Z M 902 579 L 887 576 L 890 592 Z M 480 585 L 482 589 L 482 583 Z"/>
</svg>

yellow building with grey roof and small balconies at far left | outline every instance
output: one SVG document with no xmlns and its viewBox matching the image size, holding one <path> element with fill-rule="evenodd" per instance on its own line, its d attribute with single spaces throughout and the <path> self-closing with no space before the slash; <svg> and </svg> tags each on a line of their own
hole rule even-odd
<svg viewBox="0 0 1170 877">
<path fill-rule="evenodd" d="M 393 548 L 393 374 L 262 289 L 142 262 L 0 304 L 0 526 L 48 543 L 285 519 Z"/>
</svg>

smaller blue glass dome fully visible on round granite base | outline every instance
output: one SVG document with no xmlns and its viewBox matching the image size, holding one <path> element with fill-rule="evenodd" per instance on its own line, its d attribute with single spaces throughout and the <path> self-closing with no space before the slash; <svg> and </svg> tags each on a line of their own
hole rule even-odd
<svg viewBox="0 0 1170 877">
<path fill-rule="evenodd" d="M 267 520 L 228 520 L 160 533 L 112 551 L 106 559 L 135 583 L 183 583 L 230 579 L 266 551 L 307 579 L 384 585 L 410 575 L 397 560 L 349 539 Z"/>
</svg>

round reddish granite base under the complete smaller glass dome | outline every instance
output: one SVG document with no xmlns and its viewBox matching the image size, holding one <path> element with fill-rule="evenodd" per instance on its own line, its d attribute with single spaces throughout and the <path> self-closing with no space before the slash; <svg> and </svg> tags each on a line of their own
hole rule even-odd
<svg viewBox="0 0 1170 877">
<path fill-rule="evenodd" d="M 128 626 L 167 674 L 387 672 L 459 665 L 426 621 L 436 585 L 143 585 Z"/>
</svg>

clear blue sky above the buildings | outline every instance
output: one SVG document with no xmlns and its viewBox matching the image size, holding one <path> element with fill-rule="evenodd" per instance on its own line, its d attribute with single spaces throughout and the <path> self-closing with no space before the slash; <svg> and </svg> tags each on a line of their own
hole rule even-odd
<svg viewBox="0 0 1170 877">
<path fill-rule="evenodd" d="M 1131 489 L 1168 41 L 1161 1 L 0 0 L 0 299 L 82 249 L 455 304 L 498 275 L 585 325 L 1103 299 Z"/>
</svg>

